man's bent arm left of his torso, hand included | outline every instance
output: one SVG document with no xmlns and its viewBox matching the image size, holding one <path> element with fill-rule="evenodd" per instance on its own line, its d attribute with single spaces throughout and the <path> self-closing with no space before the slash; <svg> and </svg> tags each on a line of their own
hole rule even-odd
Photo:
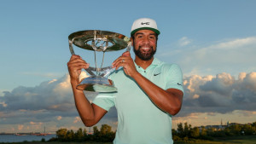
<svg viewBox="0 0 256 144">
<path fill-rule="evenodd" d="M 88 101 L 84 95 L 84 91 L 76 89 L 76 86 L 79 84 L 79 75 L 82 68 L 88 68 L 89 64 L 82 60 L 79 55 L 72 55 L 67 62 L 67 67 L 70 75 L 70 83 L 73 89 L 75 105 L 80 118 L 85 126 L 93 126 L 94 124 L 97 124 L 108 111 L 95 104 L 90 104 L 90 101 Z"/>
</svg>

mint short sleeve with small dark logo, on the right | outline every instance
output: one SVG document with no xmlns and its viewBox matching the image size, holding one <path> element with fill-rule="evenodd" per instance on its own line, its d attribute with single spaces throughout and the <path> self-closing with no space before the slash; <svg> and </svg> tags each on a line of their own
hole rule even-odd
<svg viewBox="0 0 256 144">
<path fill-rule="evenodd" d="M 176 64 L 172 64 L 167 72 L 166 89 L 179 89 L 183 91 L 183 73 Z"/>
</svg>

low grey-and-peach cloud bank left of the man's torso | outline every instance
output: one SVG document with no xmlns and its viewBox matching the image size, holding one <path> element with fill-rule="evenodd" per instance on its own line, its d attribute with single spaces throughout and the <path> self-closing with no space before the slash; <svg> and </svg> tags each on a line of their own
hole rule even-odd
<svg viewBox="0 0 256 144">
<path fill-rule="evenodd" d="M 82 72 L 81 78 L 84 77 L 86 74 Z M 96 95 L 92 92 L 84 93 L 89 101 L 92 101 Z M 114 118 L 116 118 L 115 109 L 109 111 L 99 124 L 109 121 L 109 119 L 116 122 Z M 20 86 L 11 91 L 4 91 L 0 96 L 0 121 L 1 127 L 2 125 L 13 125 L 18 128 L 18 125 L 24 125 L 24 128 L 28 127 L 34 130 L 43 129 L 44 124 L 56 125 L 55 129 L 66 126 L 74 126 L 77 129 L 84 127 L 74 104 L 68 74 L 34 87 Z M 25 130 L 24 128 L 23 130 Z"/>
</svg>

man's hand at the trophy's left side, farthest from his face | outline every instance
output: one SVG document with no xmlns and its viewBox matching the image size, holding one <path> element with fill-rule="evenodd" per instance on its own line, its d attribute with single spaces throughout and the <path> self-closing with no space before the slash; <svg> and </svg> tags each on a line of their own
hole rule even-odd
<svg viewBox="0 0 256 144">
<path fill-rule="evenodd" d="M 70 81 L 79 83 L 79 76 L 82 68 L 86 69 L 90 64 L 86 63 L 81 56 L 72 55 L 70 60 L 67 62 L 68 72 L 70 75 Z"/>
</svg>

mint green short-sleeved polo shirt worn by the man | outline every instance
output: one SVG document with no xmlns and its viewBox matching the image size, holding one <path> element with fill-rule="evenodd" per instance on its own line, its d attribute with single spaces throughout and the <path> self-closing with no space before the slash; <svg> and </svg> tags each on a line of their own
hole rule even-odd
<svg viewBox="0 0 256 144">
<path fill-rule="evenodd" d="M 135 66 L 137 72 L 160 88 L 183 91 L 183 74 L 176 64 L 154 58 L 146 70 L 136 63 Z M 93 103 L 107 111 L 116 107 L 118 128 L 113 143 L 172 144 L 172 116 L 156 107 L 123 69 L 113 72 L 109 79 L 113 80 L 118 92 L 101 93 Z"/>
</svg>

